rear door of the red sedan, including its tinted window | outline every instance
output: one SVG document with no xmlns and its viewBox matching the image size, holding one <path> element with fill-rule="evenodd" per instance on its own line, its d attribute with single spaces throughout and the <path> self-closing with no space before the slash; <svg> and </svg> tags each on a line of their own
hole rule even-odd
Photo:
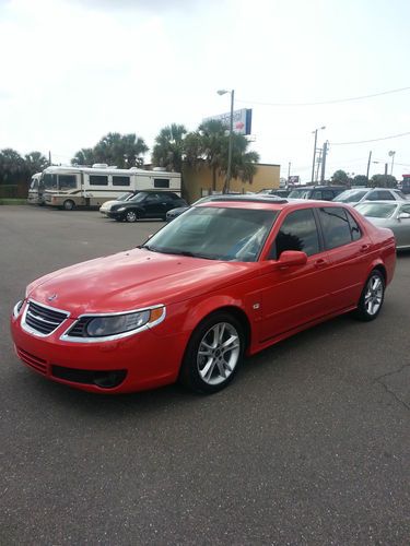
<svg viewBox="0 0 410 546">
<path fill-rule="evenodd" d="M 316 210 L 330 265 L 329 306 L 339 311 L 358 304 L 368 268 L 372 241 L 354 216 L 341 206 Z"/>
</svg>

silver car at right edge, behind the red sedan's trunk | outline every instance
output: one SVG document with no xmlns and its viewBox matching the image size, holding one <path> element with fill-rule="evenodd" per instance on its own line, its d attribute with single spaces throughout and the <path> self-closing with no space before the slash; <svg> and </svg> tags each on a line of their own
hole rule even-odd
<svg viewBox="0 0 410 546">
<path fill-rule="evenodd" d="M 410 248 L 410 202 L 365 201 L 355 210 L 378 227 L 389 227 L 396 237 L 398 250 Z"/>
</svg>

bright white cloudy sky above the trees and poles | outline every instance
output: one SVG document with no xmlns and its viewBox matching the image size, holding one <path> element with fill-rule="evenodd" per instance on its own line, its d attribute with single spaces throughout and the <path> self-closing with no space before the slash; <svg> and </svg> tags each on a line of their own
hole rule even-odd
<svg viewBox="0 0 410 546">
<path fill-rule="evenodd" d="M 263 163 L 309 179 L 312 131 L 337 168 L 410 173 L 409 0 L 0 0 L 0 149 L 68 163 L 108 131 L 152 147 L 172 122 L 253 108 Z M 150 159 L 148 154 L 145 159 Z M 389 164 L 390 165 L 390 164 Z M 390 167 L 389 167 L 390 168 Z"/>
</svg>

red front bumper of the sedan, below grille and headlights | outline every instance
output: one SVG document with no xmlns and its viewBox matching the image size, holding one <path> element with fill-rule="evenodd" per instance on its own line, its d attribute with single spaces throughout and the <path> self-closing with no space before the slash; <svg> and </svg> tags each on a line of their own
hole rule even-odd
<svg viewBox="0 0 410 546">
<path fill-rule="evenodd" d="M 49 336 L 39 337 L 22 329 L 21 317 L 11 318 L 16 355 L 54 381 L 91 392 L 120 393 L 173 383 L 178 377 L 185 340 L 179 334 L 159 339 L 161 324 L 155 332 L 87 344 L 60 340 L 71 319 Z"/>
</svg>

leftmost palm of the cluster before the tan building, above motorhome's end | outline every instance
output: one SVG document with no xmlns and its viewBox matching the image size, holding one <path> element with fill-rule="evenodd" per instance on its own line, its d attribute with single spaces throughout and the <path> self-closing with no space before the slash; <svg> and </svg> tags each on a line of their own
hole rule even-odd
<svg viewBox="0 0 410 546">
<path fill-rule="evenodd" d="M 177 123 L 161 129 L 152 152 L 153 165 L 164 167 L 166 170 L 181 173 L 185 154 L 184 140 L 187 132 L 184 126 Z"/>
</svg>

